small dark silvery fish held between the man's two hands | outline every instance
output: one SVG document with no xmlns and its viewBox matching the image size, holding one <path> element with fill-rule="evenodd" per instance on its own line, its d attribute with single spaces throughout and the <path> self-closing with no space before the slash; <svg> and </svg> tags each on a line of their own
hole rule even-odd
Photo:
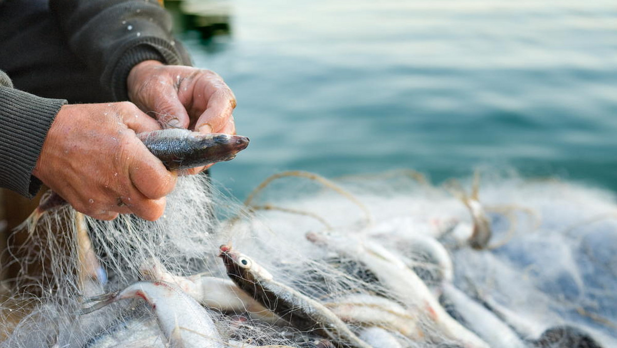
<svg viewBox="0 0 617 348">
<path fill-rule="evenodd" d="M 229 161 L 249 145 L 249 138 L 230 134 L 201 134 L 188 129 L 152 130 L 137 135 L 170 170 Z"/>
</svg>

